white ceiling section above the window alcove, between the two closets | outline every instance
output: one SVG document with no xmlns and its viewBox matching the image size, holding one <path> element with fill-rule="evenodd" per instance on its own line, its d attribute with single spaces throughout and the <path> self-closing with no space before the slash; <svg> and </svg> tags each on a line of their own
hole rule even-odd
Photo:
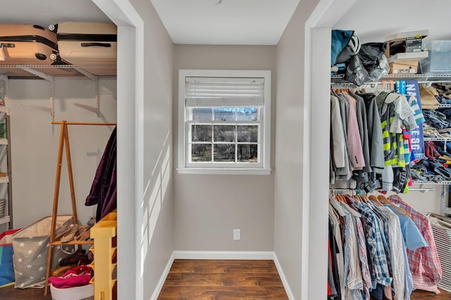
<svg viewBox="0 0 451 300">
<path fill-rule="evenodd" d="M 299 0 L 151 0 L 175 44 L 276 45 Z"/>
</svg>

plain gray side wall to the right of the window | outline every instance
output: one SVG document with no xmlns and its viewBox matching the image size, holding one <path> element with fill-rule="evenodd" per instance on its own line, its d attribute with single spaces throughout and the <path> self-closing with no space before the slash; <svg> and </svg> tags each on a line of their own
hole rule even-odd
<svg viewBox="0 0 451 300">
<path fill-rule="evenodd" d="M 305 1 L 304 1 L 305 2 Z M 276 176 L 274 186 L 274 250 L 295 299 L 302 299 L 302 261 L 308 244 L 302 244 L 304 197 L 302 160 L 309 141 L 304 135 L 305 22 L 317 1 L 299 4 L 277 46 Z M 325 87 L 327 88 L 327 87 Z M 319 117 L 319 116 L 314 116 Z M 293 134 L 294 133 L 294 134 Z M 313 164 L 313 163 L 312 163 Z M 314 164 L 312 165 L 314 167 Z M 314 216 L 312 216 L 314 217 Z M 321 238 L 321 237 L 319 237 Z"/>
</svg>

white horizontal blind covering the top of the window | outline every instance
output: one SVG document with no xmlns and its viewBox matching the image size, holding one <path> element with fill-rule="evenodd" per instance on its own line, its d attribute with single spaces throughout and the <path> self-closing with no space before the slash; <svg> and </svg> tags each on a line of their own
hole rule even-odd
<svg viewBox="0 0 451 300">
<path fill-rule="evenodd" d="M 185 107 L 264 106 L 264 78 L 185 78 Z"/>
</svg>

